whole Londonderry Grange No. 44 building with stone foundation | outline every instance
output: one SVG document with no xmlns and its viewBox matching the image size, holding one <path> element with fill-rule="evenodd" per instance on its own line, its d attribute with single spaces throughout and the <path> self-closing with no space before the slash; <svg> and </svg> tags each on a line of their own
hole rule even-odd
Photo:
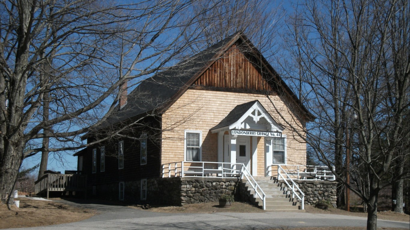
<svg viewBox="0 0 410 230">
<path fill-rule="evenodd" d="M 235 194 L 262 207 L 269 192 L 258 180 L 295 179 L 305 169 L 300 135 L 314 117 L 241 32 L 120 100 L 114 116 L 85 138 L 121 128 L 120 135 L 75 153 L 88 197 L 184 205 Z M 300 192 L 280 190 L 301 208 Z"/>
</svg>

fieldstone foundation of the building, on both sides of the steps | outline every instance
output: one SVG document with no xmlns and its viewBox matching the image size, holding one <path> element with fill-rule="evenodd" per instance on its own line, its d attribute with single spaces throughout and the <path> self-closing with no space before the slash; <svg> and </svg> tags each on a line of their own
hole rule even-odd
<svg viewBox="0 0 410 230">
<path fill-rule="evenodd" d="M 297 181 L 305 194 L 305 204 L 316 205 L 321 200 L 336 206 L 334 181 Z M 91 190 L 88 194 L 92 194 Z M 218 201 L 221 194 L 234 194 L 239 200 L 251 203 L 245 183 L 233 178 L 148 178 L 146 201 L 141 201 L 141 181 L 124 182 L 124 201 L 139 204 L 162 204 L 181 206 L 185 204 Z M 97 185 L 96 197 L 118 201 L 118 183 Z"/>
</svg>

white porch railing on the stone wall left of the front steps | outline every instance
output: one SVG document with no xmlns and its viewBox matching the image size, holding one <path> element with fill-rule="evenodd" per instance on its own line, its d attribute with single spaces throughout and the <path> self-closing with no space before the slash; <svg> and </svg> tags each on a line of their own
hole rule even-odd
<svg viewBox="0 0 410 230">
<path fill-rule="evenodd" d="M 162 177 L 239 178 L 242 164 L 179 161 L 162 165 Z"/>
</svg>

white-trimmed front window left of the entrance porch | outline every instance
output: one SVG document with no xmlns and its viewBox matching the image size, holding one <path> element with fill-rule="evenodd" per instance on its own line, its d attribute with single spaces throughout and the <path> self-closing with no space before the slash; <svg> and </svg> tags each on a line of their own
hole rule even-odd
<svg viewBox="0 0 410 230">
<path fill-rule="evenodd" d="M 201 160 L 201 131 L 185 131 L 185 160 Z"/>
</svg>

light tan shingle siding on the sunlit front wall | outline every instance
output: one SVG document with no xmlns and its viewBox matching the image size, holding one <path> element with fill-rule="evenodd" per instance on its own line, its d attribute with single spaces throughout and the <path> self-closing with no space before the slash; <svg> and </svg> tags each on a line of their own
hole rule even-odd
<svg viewBox="0 0 410 230">
<path fill-rule="evenodd" d="M 287 108 L 277 95 L 271 95 L 274 108 L 265 95 L 221 92 L 214 90 L 187 90 L 162 116 L 162 156 L 161 163 L 178 162 L 184 160 L 184 131 L 202 131 L 202 160 L 217 161 L 217 134 L 209 130 L 228 115 L 239 104 L 259 100 L 278 124 L 284 124 L 276 112 L 296 126 L 301 126 L 292 108 Z M 298 124 L 296 124 L 297 122 Z M 167 130 L 165 130 L 167 129 Z M 297 139 L 297 135 L 286 129 L 287 136 L 287 164 L 306 164 L 306 144 Z M 257 145 L 258 176 L 264 176 L 264 138 L 258 138 Z M 275 174 L 275 173 L 274 173 Z"/>
</svg>

